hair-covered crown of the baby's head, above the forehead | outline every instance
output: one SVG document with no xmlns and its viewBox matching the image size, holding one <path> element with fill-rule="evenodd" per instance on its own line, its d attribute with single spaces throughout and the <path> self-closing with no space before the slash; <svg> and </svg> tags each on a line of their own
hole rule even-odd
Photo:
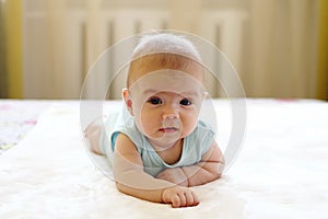
<svg viewBox="0 0 328 219">
<path fill-rule="evenodd" d="M 195 46 L 183 36 L 155 34 L 143 36 L 136 46 L 128 72 L 129 88 L 142 76 L 160 69 L 180 70 L 202 82 L 201 58 Z"/>
</svg>

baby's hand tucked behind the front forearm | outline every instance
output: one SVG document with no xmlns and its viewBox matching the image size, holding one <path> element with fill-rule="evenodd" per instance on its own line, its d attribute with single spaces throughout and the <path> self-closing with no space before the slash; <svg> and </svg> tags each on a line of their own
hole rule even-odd
<svg viewBox="0 0 328 219">
<path fill-rule="evenodd" d="M 176 185 L 188 186 L 188 178 L 180 168 L 165 169 L 157 174 L 157 178 L 168 181 Z"/>
</svg>

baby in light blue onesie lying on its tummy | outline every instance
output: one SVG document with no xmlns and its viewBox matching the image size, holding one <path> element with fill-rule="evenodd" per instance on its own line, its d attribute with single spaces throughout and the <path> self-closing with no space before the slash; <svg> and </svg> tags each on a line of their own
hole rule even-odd
<svg viewBox="0 0 328 219">
<path fill-rule="evenodd" d="M 200 61 L 195 46 L 173 34 L 143 36 L 134 48 L 122 90 L 126 113 L 108 118 L 101 140 L 99 127 L 85 130 L 92 151 L 113 163 L 120 192 L 173 207 L 197 206 L 188 187 L 221 176 L 224 158 L 215 134 L 198 119 L 207 95 Z"/>
</svg>

